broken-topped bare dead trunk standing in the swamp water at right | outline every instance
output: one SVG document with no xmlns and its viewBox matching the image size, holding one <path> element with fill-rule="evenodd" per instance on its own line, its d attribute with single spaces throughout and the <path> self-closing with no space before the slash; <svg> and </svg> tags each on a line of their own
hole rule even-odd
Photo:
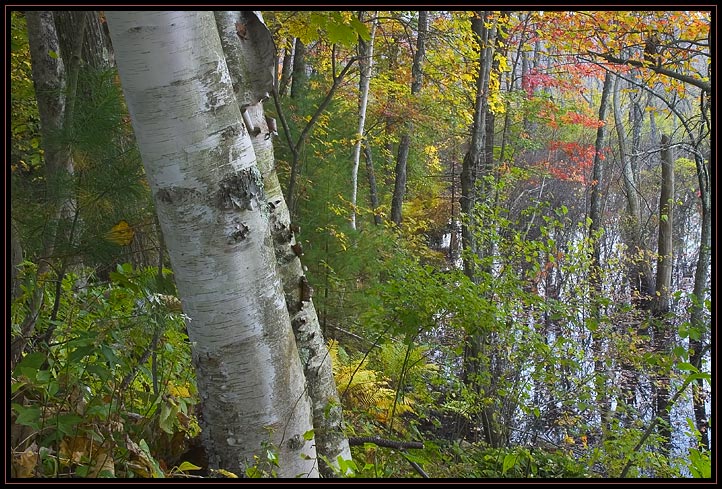
<svg viewBox="0 0 722 489">
<path fill-rule="evenodd" d="M 674 158 L 669 148 L 670 139 L 662 134 L 662 188 L 659 194 L 659 243 L 657 245 L 657 281 L 653 300 L 654 313 L 654 346 L 659 353 L 669 348 L 674 332 L 669 319 L 669 304 L 672 288 L 673 244 L 672 214 L 674 209 Z M 672 445 L 672 428 L 669 411 L 669 372 L 661 372 L 655 379 L 655 410 L 662 419 L 660 435 L 665 440 L 663 452 L 669 455 Z"/>
</svg>

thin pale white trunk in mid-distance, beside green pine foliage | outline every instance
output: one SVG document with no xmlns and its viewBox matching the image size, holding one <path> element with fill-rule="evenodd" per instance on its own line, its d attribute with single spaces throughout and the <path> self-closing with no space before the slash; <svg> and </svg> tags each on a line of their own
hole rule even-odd
<svg viewBox="0 0 722 489">
<path fill-rule="evenodd" d="M 369 85 L 374 61 L 374 36 L 376 35 L 376 13 L 371 21 L 371 38 L 368 42 L 359 37 L 359 122 L 356 133 L 356 144 L 353 151 L 351 169 L 351 229 L 356 229 L 356 197 L 358 192 L 358 167 L 361 163 L 361 146 L 364 144 L 364 128 L 366 126 L 366 107 L 369 100 Z M 364 12 L 359 12 L 359 22 L 364 21 Z"/>
</svg>

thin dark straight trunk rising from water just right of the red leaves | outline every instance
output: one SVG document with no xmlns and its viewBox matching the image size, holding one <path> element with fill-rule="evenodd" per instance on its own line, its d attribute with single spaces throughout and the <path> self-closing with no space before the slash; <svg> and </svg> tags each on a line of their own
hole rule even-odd
<svg viewBox="0 0 722 489">
<path fill-rule="evenodd" d="M 599 102 L 599 120 L 605 121 L 607 117 L 607 106 L 609 92 L 612 90 L 612 75 L 607 72 L 604 76 L 601 101 Z M 592 195 L 589 210 L 589 237 L 592 239 L 592 265 L 590 273 L 590 290 L 593 297 L 590 297 L 592 305 L 592 319 L 597 325 L 601 325 L 602 311 L 596 298 L 601 296 L 602 290 L 602 252 L 601 237 L 598 236 L 602 229 L 602 188 L 604 188 L 604 158 L 603 151 L 606 145 L 606 126 L 600 125 L 597 129 L 595 143 L 594 164 L 592 168 Z M 597 394 L 597 406 L 600 413 L 602 432 L 606 433 L 609 428 L 611 406 L 607 392 L 607 371 L 604 362 L 604 346 L 602 344 L 602 332 L 596 330 L 592 333 L 592 348 L 596 360 L 594 361 L 595 389 Z"/>
</svg>

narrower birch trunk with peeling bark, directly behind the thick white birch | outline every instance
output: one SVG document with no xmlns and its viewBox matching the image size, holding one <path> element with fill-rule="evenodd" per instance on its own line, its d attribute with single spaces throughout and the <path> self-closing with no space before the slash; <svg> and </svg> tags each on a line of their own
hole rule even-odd
<svg viewBox="0 0 722 489">
<path fill-rule="evenodd" d="M 271 33 L 265 30 L 263 34 L 259 18 L 251 12 L 216 11 L 215 16 L 231 78 L 239 80 L 239 83 L 245 83 L 251 78 L 246 70 L 252 69 L 256 53 L 266 51 L 260 44 L 264 41 L 273 42 Z M 238 23 L 246 26 L 257 24 L 258 33 L 244 42 L 236 35 Z M 263 90 L 252 90 L 256 93 L 261 91 Z M 270 119 L 265 116 L 260 102 L 246 106 L 244 110 L 250 125 L 260 129 L 251 137 L 251 142 L 258 168 L 263 175 L 276 264 L 283 283 L 286 306 L 311 398 L 316 452 L 338 468 L 338 457 L 350 459 L 351 452 L 348 439 L 343 433 L 342 408 L 333 377 L 331 358 L 321 332 L 313 299 L 304 291 L 307 280 L 300 259 L 303 251 L 292 229 L 286 200 L 276 174 L 273 131 L 268 127 Z M 256 131 L 249 130 L 249 132 Z M 325 477 L 334 474 L 325 462 L 320 462 L 319 467 Z"/>
</svg>

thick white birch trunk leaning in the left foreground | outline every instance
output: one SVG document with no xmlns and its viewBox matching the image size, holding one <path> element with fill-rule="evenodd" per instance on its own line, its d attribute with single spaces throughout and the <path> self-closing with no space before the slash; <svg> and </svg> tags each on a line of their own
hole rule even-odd
<svg viewBox="0 0 722 489">
<path fill-rule="evenodd" d="M 316 451 L 304 439 L 311 406 L 276 271 L 262 176 L 213 13 L 107 15 L 190 318 L 209 465 L 242 473 L 254 456 L 266 460 L 270 442 L 279 476 L 315 477 Z"/>
</svg>

